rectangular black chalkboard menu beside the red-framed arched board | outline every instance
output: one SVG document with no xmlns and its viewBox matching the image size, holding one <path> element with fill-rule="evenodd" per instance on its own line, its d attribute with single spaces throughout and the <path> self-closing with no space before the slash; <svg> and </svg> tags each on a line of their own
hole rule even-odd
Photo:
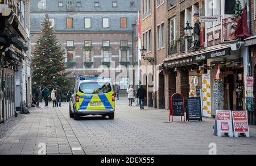
<svg viewBox="0 0 256 166">
<path fill-rule="evenodd" d="M 190 120 L 202 121 L 200 97 L 187 98 L 187 121 Z"/>
</svg>

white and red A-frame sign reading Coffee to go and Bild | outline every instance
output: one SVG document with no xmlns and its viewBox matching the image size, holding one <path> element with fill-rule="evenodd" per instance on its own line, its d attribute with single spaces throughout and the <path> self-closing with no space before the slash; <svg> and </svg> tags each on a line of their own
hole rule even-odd
<svg viewBox="0 0 256 166">
<path fill-rule="evenodd" d="M 228 133 L 233 137 L 232 113 L 231 111 L 216 111 L 214 135 L 222 136 Z"/>
</svg>

